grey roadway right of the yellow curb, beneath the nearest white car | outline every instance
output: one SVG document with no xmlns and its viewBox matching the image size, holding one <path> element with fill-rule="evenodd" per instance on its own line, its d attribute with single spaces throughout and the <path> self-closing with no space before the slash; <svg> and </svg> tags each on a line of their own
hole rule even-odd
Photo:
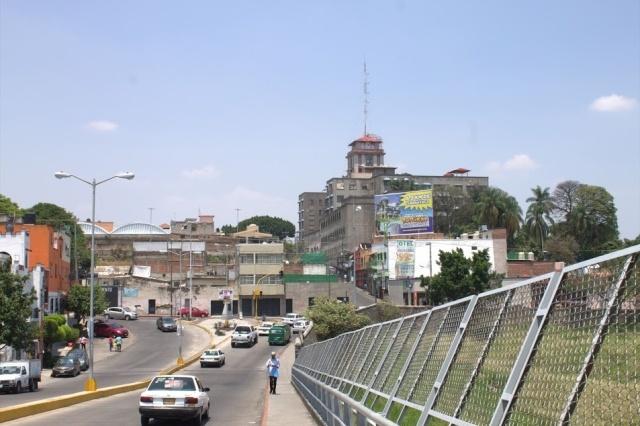
<svg viewBox="0 0 640 426">
<path fill-rule="evenodd" d="M 182 374 L 198 376 L 204 386 L 211 388 L 211 418 L 207 425 L 260 425 L 265 397 L 265 363 L 272 348 L 262 337 L 252 348 L 221 347 L 227 363 L 220 368 L 201 368 L 195 363 Z M 128 392 L 62 408 L 49 413 L 25 417 L 6 425 L 139 425 L 138 398 L 141 391 Z M 186 422 L 152 421 L 152 425 L 181 425 Z"/>
</svg>

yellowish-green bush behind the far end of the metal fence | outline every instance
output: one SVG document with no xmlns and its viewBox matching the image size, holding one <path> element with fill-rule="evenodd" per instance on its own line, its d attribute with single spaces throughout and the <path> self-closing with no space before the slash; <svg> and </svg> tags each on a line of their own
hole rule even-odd
<svg viewBox="0 0 640 426">
<path fill-rule="evenodd" d="M 307 310 L 306 317 L 313 321 L 319 340 L 330 339 L 370 323 L 367 316 L 356 313 L 354 305 L 326 297 L 316 299 L 315 305 Z"/>
</svg>

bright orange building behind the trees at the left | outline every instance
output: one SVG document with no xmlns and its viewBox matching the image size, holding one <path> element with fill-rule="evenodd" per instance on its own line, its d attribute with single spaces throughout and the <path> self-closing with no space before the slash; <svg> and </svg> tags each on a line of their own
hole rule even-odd
<svg viewBox="0 0 640 426">
<path fill-rule="evenodd" d="M 45 280 L 50 312 L 60 309 L 60 301 L 71 286 L 71 239 L 50 225 L 16 223 L 14 233 L 29 233 L 29 271 L 40 264 L 45 269 Z M 0 233 L 6 233 L 6 224 L 0 223 Z"/>
</svg>

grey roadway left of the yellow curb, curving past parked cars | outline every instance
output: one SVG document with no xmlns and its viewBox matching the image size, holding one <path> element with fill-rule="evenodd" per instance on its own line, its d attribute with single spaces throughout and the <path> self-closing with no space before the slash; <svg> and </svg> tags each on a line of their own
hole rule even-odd
<svg viewBox="0 0 640 426">
<path fill-rule="evenodd" d="M 99 388 L 142 380 L 175 364 L 178 354 L 176 333 L 161 332 L 156 328 L 155 320 L 149 318 L 118 322 L 125 325 L 131 334 L 129 338 L 123 339 L 122 352 L 109 353 L 106 339 L 95 340 L 94 376 Z M 204 347 L 208 341 L 209 335 L 204 330 L 185 326 L 183 356 L 186 358 Z M 99 356 L 98 351 L 102 352 L 102 356 Z M 0 407 L 81 392 L 88 377 L 89 370 L 77 377 L 45 377 L 37 392 L 0 394 Z"/>
</svg>

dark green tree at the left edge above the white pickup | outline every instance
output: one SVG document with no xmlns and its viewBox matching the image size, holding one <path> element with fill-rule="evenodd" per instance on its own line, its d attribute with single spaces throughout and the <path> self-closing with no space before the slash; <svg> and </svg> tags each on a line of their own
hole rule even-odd
<svg viewBox="0 0 640 426">
<path fill-rule="evenodd" d="M 0 345 L 18 351 L 29 348 L 37 336 L 35 326 L 28 321 L 36 296 L 33 289 L 25 292 L 26 280 L 11 273 L 8 262 L 0 262 Z"/>
</svg>

